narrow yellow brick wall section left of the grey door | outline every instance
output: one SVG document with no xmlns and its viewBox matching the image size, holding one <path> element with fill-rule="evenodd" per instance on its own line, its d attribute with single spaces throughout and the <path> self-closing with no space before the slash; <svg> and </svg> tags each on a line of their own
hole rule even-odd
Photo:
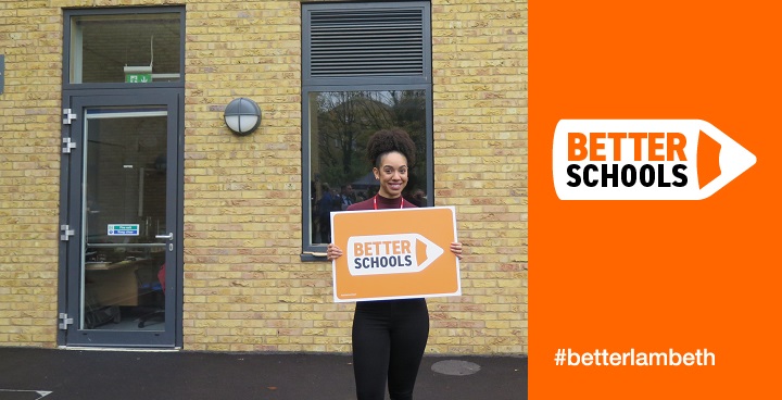
<svg viewBox="0 0 782 400">
<path fill-rule="evenodd" d="M 0 346 L 54 346 L 61 13 L 0 2 Z"/>
</svg>

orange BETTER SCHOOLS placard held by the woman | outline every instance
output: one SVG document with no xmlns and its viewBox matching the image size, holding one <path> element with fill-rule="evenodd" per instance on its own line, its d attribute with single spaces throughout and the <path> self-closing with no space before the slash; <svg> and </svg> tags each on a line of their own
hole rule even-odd
<svg viewBox="0 0 782 400">
<path fill-rule="evenodd" d="M 331 237 L 337 302 L 462 293 L 452 207 L 332 213 Z"/>
</svg>

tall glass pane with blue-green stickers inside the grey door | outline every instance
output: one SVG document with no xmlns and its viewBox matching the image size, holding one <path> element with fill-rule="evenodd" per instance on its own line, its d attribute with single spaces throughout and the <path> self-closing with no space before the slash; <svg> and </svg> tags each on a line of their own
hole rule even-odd
<svg viewBox="0 0 782 400">
<path fill-rule="evenodd" d="M 85 112 L 81 329 L 165 327 L 167 117 Z"/>
</svg>

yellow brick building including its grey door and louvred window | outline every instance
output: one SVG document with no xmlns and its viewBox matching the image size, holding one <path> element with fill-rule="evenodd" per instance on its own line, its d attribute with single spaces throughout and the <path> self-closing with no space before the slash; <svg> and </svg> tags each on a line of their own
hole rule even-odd
<svg viewBox="0 0 782 400">
<path fill-rule="evenodd" d="M 349 352 L 316 214 L 401 126 L 466 249 L 427 351 L 527 353 L 526 0 L 7 0 L 0 61 L 0 346 Z"/>
</svg>

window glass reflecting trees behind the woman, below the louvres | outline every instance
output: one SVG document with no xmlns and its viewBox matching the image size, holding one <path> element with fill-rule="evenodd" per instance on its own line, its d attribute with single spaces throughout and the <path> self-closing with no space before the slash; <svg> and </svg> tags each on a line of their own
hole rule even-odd
<svg viewBox="0 0 782 400">
<path fill-rule="evenodd" d="M 368 199 L 379 188 L 366 160 L 377 130 L 401 127 L 416 143 L 416 166 L 402 196 L 427 203 L 426 92 L 424 90 L 323 91 L 310 93 L 310 232 L 312 243 L 330 241 L 328 215 L 345 202 Z"/>
</svg>

